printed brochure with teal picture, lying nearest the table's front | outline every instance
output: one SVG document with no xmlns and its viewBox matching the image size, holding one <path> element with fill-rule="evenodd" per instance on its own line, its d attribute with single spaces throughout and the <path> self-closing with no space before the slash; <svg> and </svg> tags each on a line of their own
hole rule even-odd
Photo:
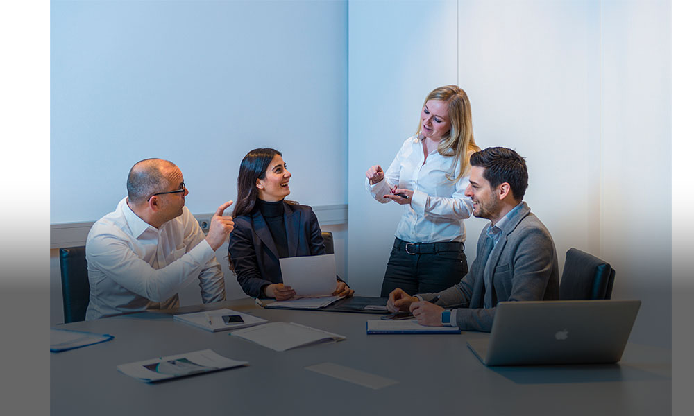
<svg viewBox="0 0 694 416">
<path fill-rule="evenodd" d="M 223 357 L 212 349 L 187 352 L 135 363 L 117 365 L 119 372 L 134 377 L 145 383 L 191 376 L 203 372 L 222 370 L 224 368 L 247 365 L 247 361 L 231 360 Z"/>
</svg>

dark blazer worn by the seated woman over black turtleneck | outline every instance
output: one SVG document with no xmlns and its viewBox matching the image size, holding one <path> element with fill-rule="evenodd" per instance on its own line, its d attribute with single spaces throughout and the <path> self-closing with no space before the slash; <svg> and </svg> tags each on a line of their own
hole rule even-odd
<svg viewBox="0 0 694 416">
<path fill-rule="evenodd" d="M 285 202 L 285 228 L 289 257 L 325 254 L 321 227 L 313 209 Z M 255 209 L 234 218 L 229 236 L 229 255 L 241 288 L 246 295 L 265 297 L 262 286 L 282 283 L 280 257 L 265 219 Z"/>
</svg>

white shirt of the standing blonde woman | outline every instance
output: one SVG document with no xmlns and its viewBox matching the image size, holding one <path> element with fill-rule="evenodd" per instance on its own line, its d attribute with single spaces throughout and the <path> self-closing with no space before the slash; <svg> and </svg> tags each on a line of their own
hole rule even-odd
<svg viewBox="0 0 694 416">
<path fill-rule="evenodd" d="M 451 172 L 455 155 L 441 156 L 434 146 L 425 163 L 423 149 L 416 136 L 405 140 L 384 180 L 371 185 L 366 179 L 366 189 L 382 203 L 390 201 L 383 196 L 395 185 L 414 191 L 412 202 L 403 205 L 405 212 L 395 233 L 398 239 L 410 243 L 464 242 L 463 219 L 473 212 L 471 199 L 464 195 L 470 179 L 468 176 L 457 182 L 448 179 L 457 176 L 457 172 Z"/>
</svg>

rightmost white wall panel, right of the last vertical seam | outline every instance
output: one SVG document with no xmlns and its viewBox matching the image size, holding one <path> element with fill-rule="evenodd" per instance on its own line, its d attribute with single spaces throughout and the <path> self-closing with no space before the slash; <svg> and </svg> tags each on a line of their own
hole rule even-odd
<svg viewBox="0 0 694 416">
<path fill-rule="evenodd" d="M 601 254 L 616 268 L 614 297 L 643 301 L 632 339 L 670 347 L 670 2 L 603 0 L 601 10 Z"/>
</svg>

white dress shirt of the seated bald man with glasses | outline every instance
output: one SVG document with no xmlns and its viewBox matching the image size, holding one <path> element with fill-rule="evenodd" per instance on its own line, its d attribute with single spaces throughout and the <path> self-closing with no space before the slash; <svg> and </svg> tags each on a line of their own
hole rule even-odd
<svg viewBox="0 0 694 416">
<path fill-rule="evenodd" d="M 203 302 L 226 299 L 221 266 L 187 207 L 157 229 L 126 201 L 96 221 L 87 236 L 87 320 L 178 307 L 178 291 L 196 278 Z"/>
</svg>

